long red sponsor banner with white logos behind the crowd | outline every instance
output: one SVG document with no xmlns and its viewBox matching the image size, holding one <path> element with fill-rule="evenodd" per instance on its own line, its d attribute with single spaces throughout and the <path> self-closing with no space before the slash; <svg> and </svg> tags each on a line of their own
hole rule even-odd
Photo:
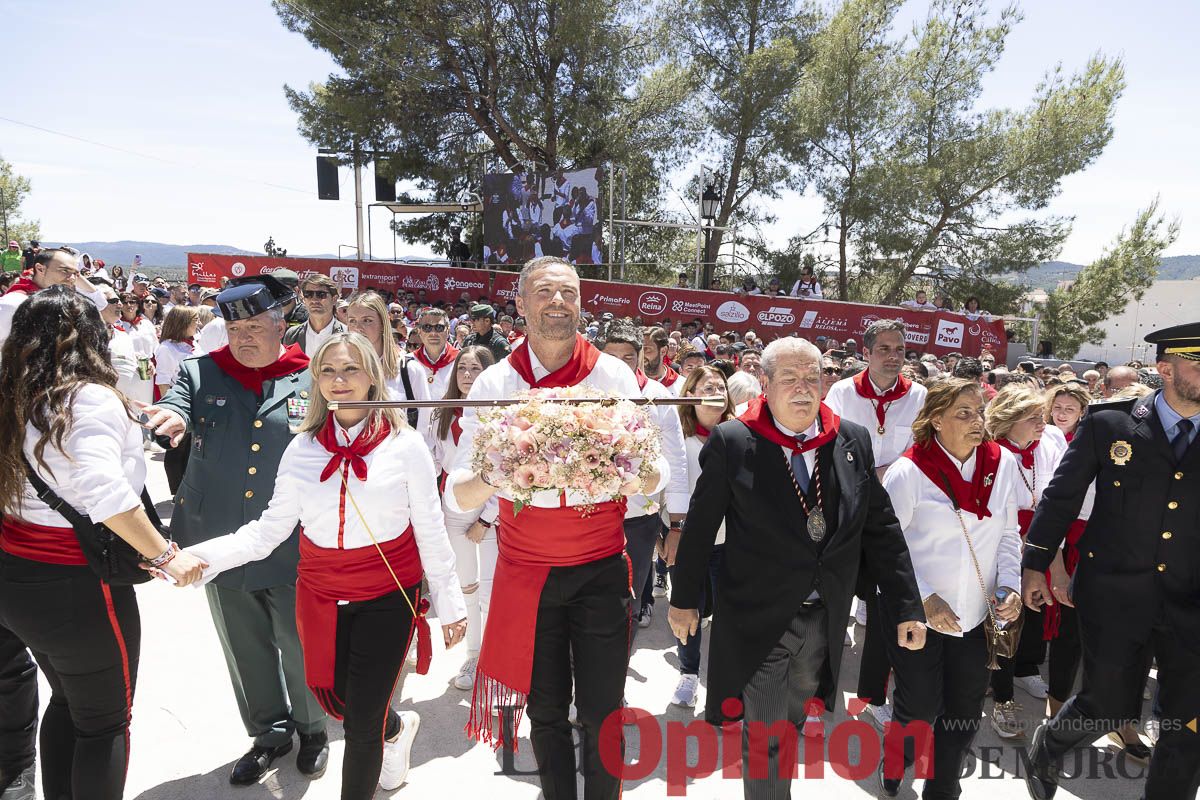
<svg viewBox="0 0 1200 800">
<path fill-rule="evenodd" d="M 269 275 L 289 269 L 301 279 L 306 275 L 328 275 L 348 290 L 389 289 L 391 291 L 425 290 L 430 302 L 449 302 L 466 297 L 474 302 L 487 296 L 497 302 L 516 297 L 516 272 L 468 270 L 422 264 L 390 264 L 382 261 L 350 261 L 319 258 L 266 258 L 257 255 L 214 255 L 188 253 L 190 283 L 220 287 L 222 278 L 246 275 Z M 725 291 L 701 291 L 650 287 L 610 281 L 581 281 L 581 303 L 594 314 L 636 317 L 643 323 L 700 319 L 712 323 L 718 331 L 754 331 L 769 342 L 780 336 L 802 336 L 815 339 L 826 336 L 840 342 L 856 337 L 862 343 L 863 331 L 877 319 L 899 319 L 907 326 L 906 339 L 914 350 L 946 355 L 962 353 L 978 355 L 988 349 L 1003 363 L 1008 353 L 1002 319 L 971 320 L 949 312 L 913 311 L 893 306 L 869 306 L 834 300 L 802 300 L 799 297 L 739 297 Z"/>
</svg>

